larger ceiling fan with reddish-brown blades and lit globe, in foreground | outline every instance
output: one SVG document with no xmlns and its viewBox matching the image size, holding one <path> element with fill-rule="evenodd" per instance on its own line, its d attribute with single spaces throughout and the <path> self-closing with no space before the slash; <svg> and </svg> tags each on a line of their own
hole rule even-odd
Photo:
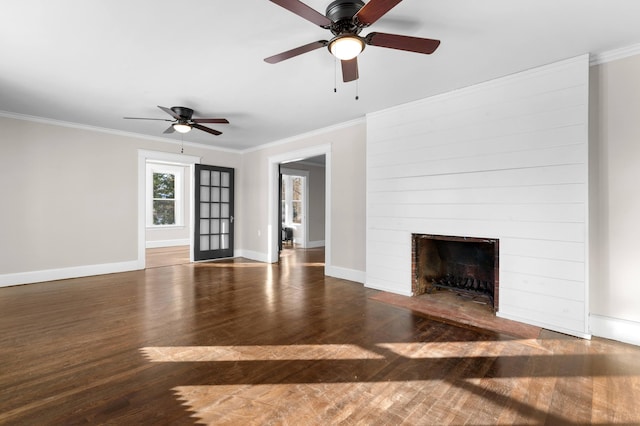
<svg viewBox="0 0 640 426">
<path fill-rule="evenodd" d="M 265 58 L 270 64 L 328 47 L 342 63 L 342 79 L 349 82 L 358 79 L 358 55 L 366 45 L 427 55 L 433 53 L 440 45 L 440 40 L 398 34 L 373 32 L 365 37 L 359 35 L 364 28 L 376 22 L 402 0 L 371 0 L 366 4 L 362 0 L 336 0 L 327 6 L 325 15 L 299 0 L 270 1 L 333 33 L 331 40 L 314 41 Z"/>
</svg>

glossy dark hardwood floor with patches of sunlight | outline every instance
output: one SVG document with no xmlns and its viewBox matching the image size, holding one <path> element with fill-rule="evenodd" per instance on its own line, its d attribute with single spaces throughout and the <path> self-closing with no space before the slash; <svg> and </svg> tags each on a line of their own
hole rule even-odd
<svg viewBox="0 0 640 426">
<path fill-rule="evenodd" d="M 0 288 L 0 424 L 640 424 L 640 348 L 438 321 L 323 256 Z"/>
</svg>

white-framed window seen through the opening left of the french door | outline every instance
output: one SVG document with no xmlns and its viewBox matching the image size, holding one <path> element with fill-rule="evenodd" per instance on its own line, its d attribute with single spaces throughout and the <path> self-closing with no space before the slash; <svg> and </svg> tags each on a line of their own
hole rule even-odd
<svg viewBox="0 0 640 426">
<path fill-rule="evenodd" d="M 147 227 L 183 226 L 184 168 L 147 164 Z"/>
</svg>

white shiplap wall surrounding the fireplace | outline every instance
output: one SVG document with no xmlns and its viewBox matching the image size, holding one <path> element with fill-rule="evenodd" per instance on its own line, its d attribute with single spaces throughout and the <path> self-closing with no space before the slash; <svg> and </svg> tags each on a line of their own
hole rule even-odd
<svg viewBox="0 0 640 426">
<path fill-rule="evenodd" d="M 505 318 L 588 337 L 589 57 L 367 116 L 366 285 L 411 294 L 411 233 L 498 238 Z"/>
</svg>

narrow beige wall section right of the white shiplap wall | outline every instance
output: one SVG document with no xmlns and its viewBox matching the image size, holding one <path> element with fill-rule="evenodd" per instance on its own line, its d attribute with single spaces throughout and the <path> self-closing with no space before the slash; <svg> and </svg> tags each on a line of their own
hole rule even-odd
<svg viewBox="0 0 640 426">
<path fill-rule="evenodd" d="M 590 84 L 591 314 L 640 322 L 640 55 Z"/>
</svg>

